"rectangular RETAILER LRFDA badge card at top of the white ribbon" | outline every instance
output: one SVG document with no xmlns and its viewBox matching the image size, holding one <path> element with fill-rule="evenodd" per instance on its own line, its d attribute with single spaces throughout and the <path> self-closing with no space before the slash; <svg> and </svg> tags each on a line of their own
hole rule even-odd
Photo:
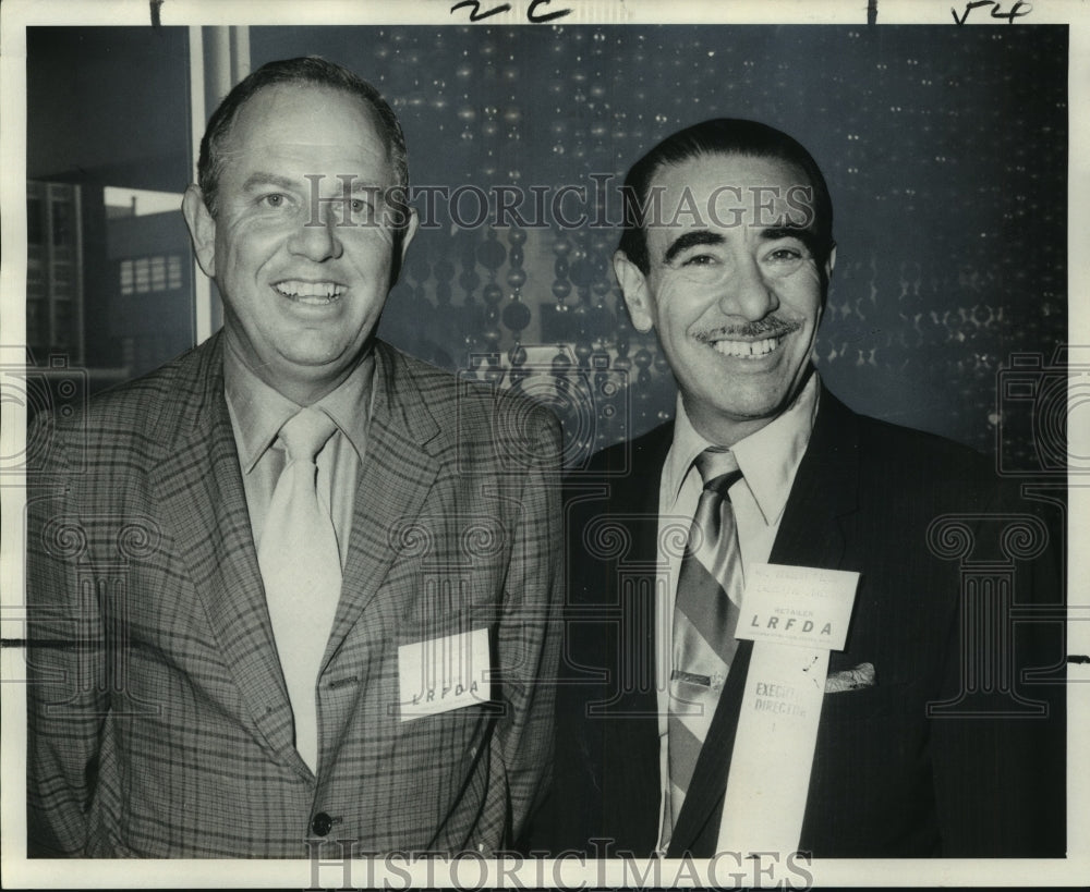
<svg viewBox="0 0 1090 892">
<path fill-rule="evenodd" d="M 859 574 L 846 570 L 754 564 L 736 637 L 843 650 Z"/>
</svg>

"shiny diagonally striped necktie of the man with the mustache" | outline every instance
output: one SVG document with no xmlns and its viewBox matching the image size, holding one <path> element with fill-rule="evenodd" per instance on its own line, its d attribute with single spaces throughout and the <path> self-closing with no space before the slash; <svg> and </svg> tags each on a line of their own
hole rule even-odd
<svg viewBox="0 0 1090 892">
<path fill-rule="evenodd" d="M 738 643 L 742 564 L 727 490 L 741 477 L 730 452 L 697 456 L 704 482 L 681 560 L 674 604 L 668 750 L 670 827 L 677 823 Z"/>
</svg>

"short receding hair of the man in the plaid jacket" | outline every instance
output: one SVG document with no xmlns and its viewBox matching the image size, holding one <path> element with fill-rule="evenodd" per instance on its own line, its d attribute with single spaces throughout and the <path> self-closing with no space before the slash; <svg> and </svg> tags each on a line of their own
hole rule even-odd
<svg viewBox="0 0 1090 892">
<path fill-rule="evenodd" d="M 208 119 L 204 138 L 201 139 L 197 184 L 204 195 L 205 206 L 213 217 L 216 216 L 216 192 L 223 170 L 223 143 L 231 135 L 231 129 L 242 107 L 261 90 L 277 84 L 329 87 L 359 97 L 374 112 L 379 133 L 386 139 L 387 154 L 393 164 L 397 184 L 408 194 L 409 156 L 405 150 L 405 137 L 393 109 L 377 89 L 343 65 L 317 56 L 305 56 L 280 59 L 262 65 L 235 84 Z"/>
</svg>

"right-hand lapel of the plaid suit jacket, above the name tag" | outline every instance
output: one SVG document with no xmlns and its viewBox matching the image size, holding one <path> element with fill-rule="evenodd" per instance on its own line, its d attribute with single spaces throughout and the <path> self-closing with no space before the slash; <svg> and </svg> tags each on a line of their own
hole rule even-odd
<svg viewBox="0 0 1090 892">
<path fill-rule="evenodd" d="M 376 343 L 375 399 L 360 468 L 344 583 L 326 661 L 378 594 L 398 554 L 399 529 L 420 514 L 439 472 L 425 447 L 439 433 L 404 361 Z M 376 628 L 375 634 L 379 634 Z"/>
</svg>

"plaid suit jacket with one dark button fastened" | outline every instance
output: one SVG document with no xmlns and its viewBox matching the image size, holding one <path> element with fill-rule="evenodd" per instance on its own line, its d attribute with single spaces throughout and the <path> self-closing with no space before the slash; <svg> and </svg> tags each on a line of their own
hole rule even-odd
<svg viewBox="0 0 1090 892">
<path fill-rule="evenodd" d="M 559 428 L 376 350 L 317 777 L 292 744 L 219 338 L 35 420 L 32 855 L 306 857 L 316 833 L 487 854 L 520 832 L 552 760 Z M 488 702 L 402 721 L 399 646 L 476 628 Z"/>
</svg>

